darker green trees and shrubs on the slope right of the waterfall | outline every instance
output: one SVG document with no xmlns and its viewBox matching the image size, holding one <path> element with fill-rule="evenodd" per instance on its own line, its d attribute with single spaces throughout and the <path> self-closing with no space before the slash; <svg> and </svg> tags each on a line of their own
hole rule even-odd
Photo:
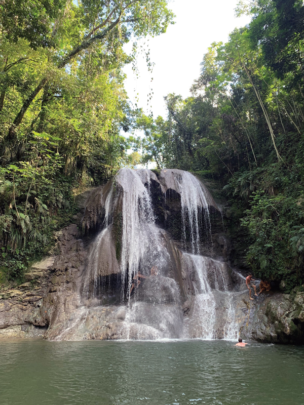
<svg viewBox="0 0 304 405">
<path fill-rule="evenodd" d="M 256 0 L 237 12 L 250 24 L 211 45 L 192 96 L 167 95 L 166 120 L 139 112 L 145 138 L 131 140 L 143 163 L 217 179 L 231 232 L 247 232 L 247 266 L 290 291 L 304 283 L 304 6 Z"/>
</svg>

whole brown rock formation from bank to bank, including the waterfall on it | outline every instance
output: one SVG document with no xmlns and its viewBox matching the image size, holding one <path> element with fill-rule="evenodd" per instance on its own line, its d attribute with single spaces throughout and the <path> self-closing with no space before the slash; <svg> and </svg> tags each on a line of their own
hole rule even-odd
<svg viewBox="0 0 304 405">
<path fill-rule="evenodd" d="M 303 343 L 304 293 L 249 300 L 244 276 L 226 260 L 221 214 L 194 176 L 127 169 L 95 188 L 84 207 L 82 223 L 57 232 L 56 254 L 0 294 L 0 338 L 240 334 Z"/>
</svg>

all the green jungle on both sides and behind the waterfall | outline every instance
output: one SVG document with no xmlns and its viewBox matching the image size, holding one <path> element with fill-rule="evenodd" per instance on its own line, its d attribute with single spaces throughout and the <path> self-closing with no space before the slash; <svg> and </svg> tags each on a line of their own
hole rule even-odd
<svg viewBox="0 0 304 405">
<path fill-rule="evenodd" d="M 216 180 L 244 266 L 303 289 L 303 2 L 241 1 L 251 22 L 211 44 L 192 96 L 168 94 L 154 118 L 130 108 L 122 67 L 173 23 L 167 3 L 0 2 L 0 286 L 49 249 L 75 194 L 154 162 Z"/>
</svg>

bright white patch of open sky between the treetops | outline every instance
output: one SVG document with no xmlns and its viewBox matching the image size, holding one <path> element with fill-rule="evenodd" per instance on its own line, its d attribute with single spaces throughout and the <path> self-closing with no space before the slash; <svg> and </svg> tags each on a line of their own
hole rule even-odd
<svg viewBox="0 0 304 405">
<path fill-rule="evenodd" d="M 176 15 L 175 24 L 165 34 L 149 39 L 150 59 L 155 63 L 153 73 L 148 72 L 145 59 L 139 57 L 137 78 L 132 66 L 124 68 L 127 74 L 125 88 L 132 103 L 139 93 L 138 107 L 146 113 L 153 111 L 154 117 L 166 117 L 163 97 L 168 93 L 190 95 L 189 88 L 199 77 L 200 63 L 213 42 L 226 42 L 235 27 L 246 25 L 250 18 L 235 18 L 234 9 L 238 0 L 174 0 L 169 3 Z M 130 52 L 132 44 L 125 50 Z M 150 82 L 153 77 L 153 82 Z M 149 86 L 154 92 L 147 107 Z M 135 91 L 134 91 L 135 89 Z"/>
</svg>

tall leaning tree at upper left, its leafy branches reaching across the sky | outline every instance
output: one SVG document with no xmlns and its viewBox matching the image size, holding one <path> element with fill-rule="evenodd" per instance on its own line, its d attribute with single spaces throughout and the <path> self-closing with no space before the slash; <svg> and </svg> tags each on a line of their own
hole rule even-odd
<svg viewBox="0 0 304 405">
<path fill-rule="evenodd" d="M 121 51 L 122 45 L 135 37 L 158 35 L 166 31 L 172 23 L 173 14 L 167 9 L 166 0 L 131 0 L 122 2 L 87 0 L 78 5 L 66 3 L 66 12 L 54 22 L 55 48 L 50 48 L 47 59 L 51 69 L 71 69 L 81 63 L 85 52 L 97 47 Z M 61 18 L 60 18 L 61 17 Z M 72 18 L 71 18 L 72 17 Z M 73 27 L 71 29 L 71 27 Z M 71 29 L 71 31 L 70 31 Z M 21 35 L 21 34 L 20 34 Z M 26 35 L 25 35 L 26 36 Z M 50 89 L 50 68 L 47 68 L 38 80 L 38 84 L 29 92 L 19 112 L 13 119 L 6 141 L 14 142 L 17 129 L 36 96 L 43 88 Z M 56 73 L 54 73 L 56 75 Z M 54 94 L 54 93 L 53 93 Z"/>
</svg>

